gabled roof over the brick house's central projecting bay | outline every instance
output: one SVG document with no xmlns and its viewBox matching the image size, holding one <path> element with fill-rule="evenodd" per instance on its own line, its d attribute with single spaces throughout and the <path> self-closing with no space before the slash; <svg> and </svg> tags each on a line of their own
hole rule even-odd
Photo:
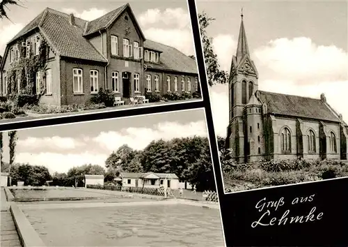
<svg viewBox="0 0 348 247">
<path fill-rule="evenodd" d="M 86 24 L 86 30 L 84 31 L 84 36 L 88 36 L 90 34 L 93 34 L 97 31 L 100 31 L 102 29 L 106 29 L 115 22 L 115 20 L 125 11 L 126 9 L 129 9 L 130 13 L 132 14 L 130 17 L 134 21 L 134 24 L 136 26 L 136 29 L 138 29 L 140 35 L 145 39 L 145 36 L 143 34 L 143 31 L 141 31 L 141 28 L 136 21 L 136 17 L 134 16 L 134 13 L 132 11 L 132 8 L 130 8 L 129 3 L 126 3 L 119 8 L 116 8 L 116 10 L 112 10 L 109 13 L 106 13 L 102 17 L 99 17 L 93 21 L 90 21 Z"/>
</svg>

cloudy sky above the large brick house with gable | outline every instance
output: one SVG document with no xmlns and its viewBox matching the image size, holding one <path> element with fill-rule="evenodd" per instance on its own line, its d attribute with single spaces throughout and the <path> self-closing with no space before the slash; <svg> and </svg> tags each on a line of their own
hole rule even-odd
<svg viewBox="0 0 348 247">
<path fill-rule="evenodd" d="M 8 16 L 12 22 L 3 20 L 1 23 L 0 54 L 3 55 L 6 43 L 46 7 L 65 13 L 74 13 L 74 15 L 84 20 L 95 20 L 126 2 L 130 4 L 146 38 L 171 45 L 187 55 L 195 54 L 191 20 L 189 19 L 187 1 L 185 0 L 24 0 L 21 1 L 23 8 L 18 6 L 8 7 Z"/>
</svg>

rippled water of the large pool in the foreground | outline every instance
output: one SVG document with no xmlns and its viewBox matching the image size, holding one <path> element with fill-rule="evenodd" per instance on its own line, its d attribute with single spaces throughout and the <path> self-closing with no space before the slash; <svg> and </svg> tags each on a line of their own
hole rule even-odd
<svg viewBox="0 0 348 247">
<path fill-rule="evenodd" d="M 224 246 L 218 209 L 173 204 L 24 214 L 47 246 Z"/>
</svg>

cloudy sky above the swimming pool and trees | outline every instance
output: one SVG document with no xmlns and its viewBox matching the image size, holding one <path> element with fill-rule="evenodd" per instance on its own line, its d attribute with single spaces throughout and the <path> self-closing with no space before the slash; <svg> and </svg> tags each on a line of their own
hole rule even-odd
<svg viewBox="0 0 348 247">
<path fill-rule="evenodd" d="M 207 126 L 204 110 L 198 109 L 24 129 L 17 135 L 15 162 L 67 172 L 88 163 L 104 166 L 122 144 L 143 149 L 152 140 L 207 137 Z M 3 161 L 8 158 L 8 134 L 3 133 Z"/>
</svg>

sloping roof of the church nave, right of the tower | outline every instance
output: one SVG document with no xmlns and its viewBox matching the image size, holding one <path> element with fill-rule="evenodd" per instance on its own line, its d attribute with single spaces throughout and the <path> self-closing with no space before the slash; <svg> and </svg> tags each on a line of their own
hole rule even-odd
<svg viewBox="0 0 348 247">
<path fill-rule="evenodd" d="M 269 113 L 305 117 L 326 121 L 340 121 L 329 105 L 317 98 L 259 91 L 260 100 L 267 103 Z"/>
</svg>

